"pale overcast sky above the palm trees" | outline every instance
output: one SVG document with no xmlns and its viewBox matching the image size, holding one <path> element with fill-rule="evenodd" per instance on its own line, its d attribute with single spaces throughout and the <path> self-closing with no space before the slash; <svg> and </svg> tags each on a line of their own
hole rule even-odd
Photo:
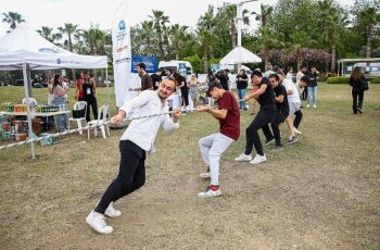
<svg viewBox="0 0 380 250">
<path fill-rule="evenodd" d="M 79 28 L 84 29 L 93 23 L 99 24 L 102 29 L 111 29 L 113 13 L 122 2 L 123 0 L 0 0 L 0 12 L 17 12 L 22 14 L 26 24 L 35 29 L 40 29 L 41 26 L 56 28 L 64 23 L 78 24 Z M 238 2 L 238 0 L 129 0 L 128 20 L 134 26 L 149 20 L 148 15 L 152 14 L 152 10 L 161 10 L 169 16 L 172 24 L 194 26 L 208 4 L 220 7 L 224 2 Z M 259 12 L 262 2 L 274 5 L 277 0 L 245 3 L 244 9 Z M 339 0 L 339 2 L 349 5 L 354 0 Z M 0 23 L 0 37 L 8 29 L 8 24 Z"/>
</svg>

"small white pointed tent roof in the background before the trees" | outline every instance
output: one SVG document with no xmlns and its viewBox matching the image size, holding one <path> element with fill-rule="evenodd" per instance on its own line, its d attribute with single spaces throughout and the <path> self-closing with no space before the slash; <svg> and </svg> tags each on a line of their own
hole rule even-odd
<svg viewBox="0 0 380 250">
<path fill-rule="evenodd" d="M 220 60 L 220 64 L 258 63 L 262 59 L 248 49 L 238 46 Z"/>
</svg>

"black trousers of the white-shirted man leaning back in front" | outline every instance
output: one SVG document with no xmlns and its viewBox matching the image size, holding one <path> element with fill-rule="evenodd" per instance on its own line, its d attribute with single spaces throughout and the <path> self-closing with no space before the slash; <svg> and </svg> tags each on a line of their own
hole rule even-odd
<svg viewBox="0 0 380 250">
<path fill-rule="evenodd" d="M 119 141 L 121 163 L 117 177 L 110 184 L 94 209 L 104 214 L 111 202 L 139 189 L 145 184 L 145 151 L 130 140 Z"/>
</svg>

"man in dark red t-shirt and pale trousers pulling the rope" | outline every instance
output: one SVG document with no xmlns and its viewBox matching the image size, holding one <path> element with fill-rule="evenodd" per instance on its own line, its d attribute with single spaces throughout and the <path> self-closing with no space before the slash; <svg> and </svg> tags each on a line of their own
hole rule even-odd
<svg viewBox="0 0 380 250">
<path fill-rule="evenodd" d="M 202 158 L 208 165 L 208 172 L 200 175 L 202 178 L 211 177 L 211 185 L 198 197 L 220 196 L 219 188 L 219 160 L 221 153 L 240 136 L 240 111 L 235 96 L 223 88 L 219 82 L 208 85 L 210 96 L 217 101 L 218 110 L 210 107 L 199 107 L 199 111 L 207 112 L 219 121 L 219 133 L 212 134 L 199 140 Z"/>
</svg>

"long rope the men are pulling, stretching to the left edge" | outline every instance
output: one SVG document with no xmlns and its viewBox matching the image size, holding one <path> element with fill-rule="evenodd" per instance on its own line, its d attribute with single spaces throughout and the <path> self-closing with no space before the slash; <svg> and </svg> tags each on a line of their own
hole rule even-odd
<svg viewBox="0 0 380 250">
<path fill-rule="evenodd" d="M 211 109 L 216 109 L 217 107 L 213 105 L 213 107 L 210 107 L 210 108 L 211 108 Z M 190 112 L 197 112 L 197 111 L 199 111 L 199 110 L 198 110 L 198 109 L 192 109 L 192 110 L 188 110 L 188 111 L 190 111 Z M 160 115 L 167 115 L 167 114 L 173 114 L 173 111 L 163 112 L 163 113 L 157 113 L 157 114 L 149 114 L 149 115 L 126 117 L 126 118 L 124 118 L 122 122 L 125 122 L 125 121 L 134 121 L 134 120 L 140 120 L 140 118 L 150 118 L 150 117 L 160 116 Z M 69 135 L 69 134 L 74 134 L 74 133 L 80 132 L 80 130 L 92 129 L 92 128 L 96 128 L 96 127 L 97 127 L 97 129 L 98 129 L 98 127 L 105 126 L 105 125 L 107 125 L 107 124 L 110 124 L 110 123 L 111 123 L 111 122 L 107 121 L 107 122 L 101 123 L 101 124 L 87 125 L 87 126 L 80 127 L 80 128 L 74 128 L 74 129 L 69 129 L 69 130 L 66 130 L 66 132 L 50 134 L 50 135 L 48 135 L 48 136 L 42 136 L 42 137 L 37 137 L 37 138 L 30 138 L 30 139 L 27 139 L 27 140 L 23 140 L 23 141 L 10 143 L 10 145 L 4 145 L 4 146 L 1 146 L 1 147 L 0 147 L 0 151 L 1 151 L 1 150 L 4 150 L 4 149 L 11 149 L 11 148 L 15 148 L 15 147 L 18 147 L 18 146 L 23 146 L 23 145 L 26 145 L 26 143 L 38 142 L 38 141 L 41 141 L 41 140 L 43 140 L 43 139 L 46 139 L 46 138 L 49 138 L 49 137 L 65 136 L 65 135 Z"/>
</svg>

